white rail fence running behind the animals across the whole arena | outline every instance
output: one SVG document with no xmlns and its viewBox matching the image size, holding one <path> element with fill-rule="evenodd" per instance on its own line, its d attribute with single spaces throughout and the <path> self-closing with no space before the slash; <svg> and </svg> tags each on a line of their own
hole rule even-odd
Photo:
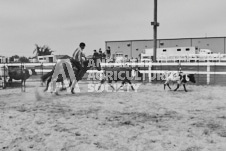
<svg viewBox="0 0 226 151">
<path fill-rule="evenodd" d="M 4 64 L 0 64 L 3 66 Z M 21 66 L 21 63 L 6 63 L 7 66 Z M 25 68 L 35 68 L 39 75 L 52 70 L 55 63 L 24 63 Z M 226 85 L 226 62 L 134 62 L 134 63 L 101 63 L 101 67 L 139 67 L 144 73 L 147 82 L 162 81 L 161 77 L 166 71 L 178 71 L 195 74 L 198 85 Z M 102 71 L 89 70 L 89 73 L 101 73 Z M 87 75 L 85 75 L 85 78 Z"/>
</svg>

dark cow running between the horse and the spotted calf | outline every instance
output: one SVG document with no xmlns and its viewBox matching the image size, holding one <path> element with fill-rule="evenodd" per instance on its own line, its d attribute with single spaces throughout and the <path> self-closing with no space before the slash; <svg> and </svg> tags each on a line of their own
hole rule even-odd
<svg viewBox="0 0 226 151">
<path fill-rule="evenodd" d="M 101 85 L 105 83 L 105 81 L 108 81 L 108 84 L 111 86 L 113 90 L 115 88 L 112 85 L 112 82 L 118 82 L 121 81 L 121 86 L 116 89 L 118 91 L 121 87 L 124 86 L 125 83 L 129 83 L 131 86 L 131 89 L 134 91 L 134 87 L 131 83 L 131 80 L 134 79 L 135 76 L 142 79 L 142 74 L 139 72 L 139 68 L 131 68 L 131 67 L 105 67 L 104 68 L 104 77 L 100 81 L 100 85 L 98 87 L 98 90 L 100 90 Z"/>
</svg>

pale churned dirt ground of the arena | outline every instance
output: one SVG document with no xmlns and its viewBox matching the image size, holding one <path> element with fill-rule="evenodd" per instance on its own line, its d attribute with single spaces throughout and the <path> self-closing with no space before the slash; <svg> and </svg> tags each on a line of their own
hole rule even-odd
<svg viewBox="0 0 226 151">
<path fill-rule="evenodd" d="M 0 90 L 1 151 L 226 150 L 226 87 L 100 93 L 80 84 L 54 96 L 35 85 Z"/>
</svg>

